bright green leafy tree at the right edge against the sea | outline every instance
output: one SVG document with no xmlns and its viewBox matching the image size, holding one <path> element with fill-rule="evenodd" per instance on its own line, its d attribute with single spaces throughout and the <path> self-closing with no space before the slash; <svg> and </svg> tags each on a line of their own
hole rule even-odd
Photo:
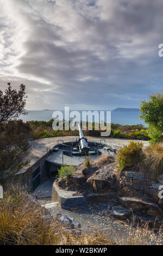
<svg viewBox="0 0 163 256">
<path fill-rule="evenodd" d="M 163 135 L 163 93 L 149 95 L 149 101 L 142 101 L 140 119 L 148 124 L 152 143 L 159 142 Z"/>
</svg>

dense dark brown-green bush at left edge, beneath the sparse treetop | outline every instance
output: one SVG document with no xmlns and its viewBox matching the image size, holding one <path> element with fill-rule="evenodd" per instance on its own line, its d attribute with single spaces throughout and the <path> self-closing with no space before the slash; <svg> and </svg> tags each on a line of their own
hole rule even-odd
<svg viewBox="0 0 163 256">
<path fill-rule="evenodd" d="M 10 120 L 0 127 L 0 184 L 4 188 L 7 182 L 14 181 L 14 174 L 27 164 L 24 156 L 30 150 L 30 131 L 29 124 L 22 120 Z"/>
</svg>

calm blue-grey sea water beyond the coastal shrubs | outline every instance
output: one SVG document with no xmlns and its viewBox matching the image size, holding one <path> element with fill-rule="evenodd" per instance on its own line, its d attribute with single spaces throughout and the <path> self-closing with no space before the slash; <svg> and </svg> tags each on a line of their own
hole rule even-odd
<svg viewBox="0 0 163 256">
<path fill-rule="evenodd" d="M 28 114 L 21 115 L 20 119 L 24 122 L 32 120 L 49 121 L 52 119 L 52 114 L 53 111 L 28 111 Z M 121 125 L 145 125 L 145 123 L 139 119 L 139 115 L 139 111 L 111 111 L 111 123 Z"/>
</svg>

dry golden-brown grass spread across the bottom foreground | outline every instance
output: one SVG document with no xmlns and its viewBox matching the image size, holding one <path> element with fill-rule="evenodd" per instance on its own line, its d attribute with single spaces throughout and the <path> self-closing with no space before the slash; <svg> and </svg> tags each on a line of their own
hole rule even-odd
<svg viewBox="0 0 163 256">
<path fill-rule="evenodd" d="M 10 191 L 0 201 L 0 245 L 148 245 L 160 244 L 148 225 L 127 231 L 127 236 L 116 241 L 106 230 L 92 228 L 90 233 L 74 235 L 67 227 L 52 219 L 42 218 L 39 205 L 30 202 L 28 194 Z M 161 239 L 161 238 L 160 238 Z"/>
</svg>

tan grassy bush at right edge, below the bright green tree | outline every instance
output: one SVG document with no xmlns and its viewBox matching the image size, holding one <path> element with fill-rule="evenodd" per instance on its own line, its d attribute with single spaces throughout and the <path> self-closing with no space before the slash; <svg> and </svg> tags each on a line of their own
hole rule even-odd
<svg viewBox="0 0 163 256">
<path fill-rule="evenodd" d="M 163 173 L 163 144 L 156 143 L 145 149 L 147 155 L 145 167 L 154 180 Z"/>
</svg>

